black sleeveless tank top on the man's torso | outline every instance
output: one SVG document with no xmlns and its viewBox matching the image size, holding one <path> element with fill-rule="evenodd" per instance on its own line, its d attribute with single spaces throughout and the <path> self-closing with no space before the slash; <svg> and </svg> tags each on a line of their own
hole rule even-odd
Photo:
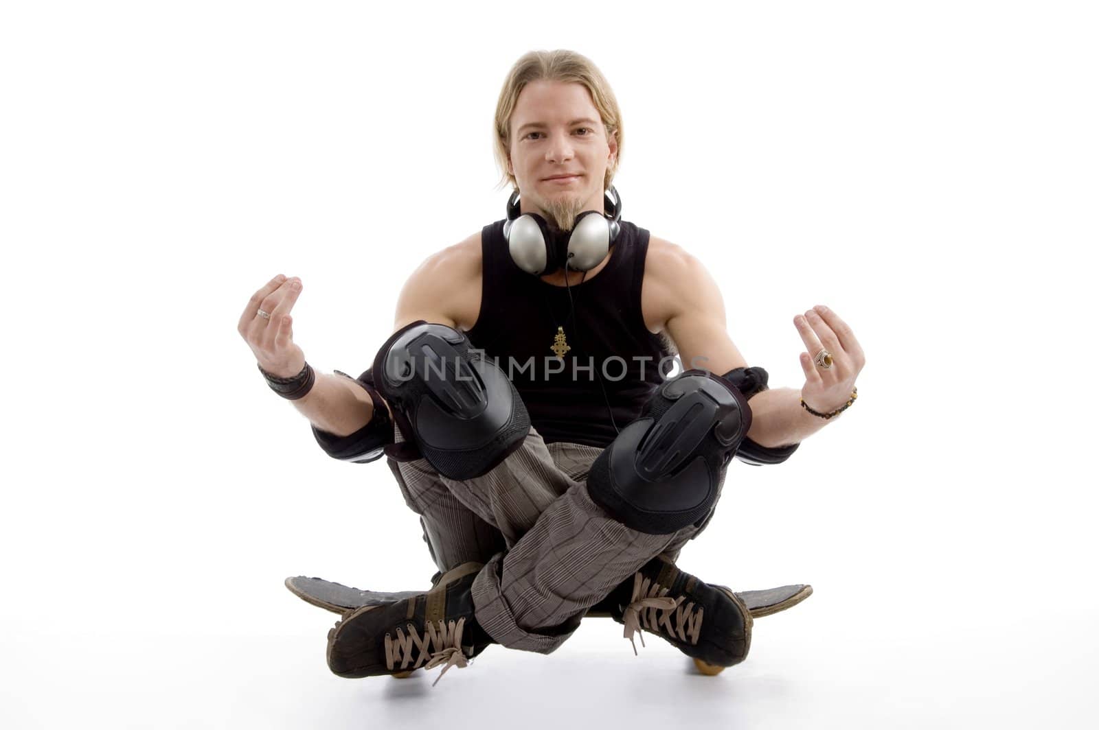
<svg viewBox="0 0 1099 730">
<path fill-rule="evenodd" d="M 503 223 L 481 231 L 481 306 L 466 336 L 514 383 L 547 443 L 606 448 L 618 434 L 599 375 L 621 429 L 641 415 L 664 375 L 676 369 L 674 350 L 648 332 L 641 312 L 648 232 L 623 221 L 607 266 L 566 290 L 511 260 Z M 563 338 L 556 336 L 558 327 Z M 570 349 L 558 358 L 555 346 Z"/>
</svg>

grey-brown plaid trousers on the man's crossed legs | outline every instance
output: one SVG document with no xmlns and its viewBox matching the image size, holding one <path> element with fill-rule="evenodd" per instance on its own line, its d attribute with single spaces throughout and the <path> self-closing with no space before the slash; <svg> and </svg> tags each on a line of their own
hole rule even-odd
<svg viewBox="0 0 1099 730">
<path fill-rule="evenodd" d="M 396 440 L 404 440 L 399 428 Z M 674 560 L 706 527 L 647 535 L 611 518 L 586 485 L 601 451 L 546 443 L 532 427 L 517 451 L 470 480 L 447 479 L 426 459 L 387 459 L 439 569 L 485 563 L 473 585 L 475 615 L 500 644 L 552 652 L 589 607 L 656 555 Z"/>
</svg>

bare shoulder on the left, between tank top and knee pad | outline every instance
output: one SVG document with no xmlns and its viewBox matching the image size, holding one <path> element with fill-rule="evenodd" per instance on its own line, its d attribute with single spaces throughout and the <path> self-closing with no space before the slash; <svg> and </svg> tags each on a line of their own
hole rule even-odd
<svg viewBox="0 0 1099 730">
<path fill-rule="evenodd" d="M 473 326 L 480 310 L 480 231 L 429 256 L 409 274 L 397 300 L 393 329 L 424 319 Z"/>
</svg>

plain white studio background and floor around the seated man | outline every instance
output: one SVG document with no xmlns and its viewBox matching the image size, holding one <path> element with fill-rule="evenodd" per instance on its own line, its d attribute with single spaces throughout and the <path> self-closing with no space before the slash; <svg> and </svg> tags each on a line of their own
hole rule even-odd
<svg viewBox="0 0 1099 730">
<path fill-rule="evenodd" d="M 0 726 L 1084 727 L 1099 680 L 1090 3 L 8 2 L 0 11 Z M 736 462 L 680 565 L 810 582 L 699 677 L 590 620 L 423 677 L 328 673 L 286 575 L 425 587 L 385 465 L 326 458 L 236 321 L 358 372 L 399 287 L 502 217 L 491 116 L 532 48 L 624 114 L 625 217 L 800 388 L 823 303 L 858 402 Z M 731 497 L 730 495 L 735 495 Z M 422 673 L 421 673 L 422 674 Z"/>
</svg>

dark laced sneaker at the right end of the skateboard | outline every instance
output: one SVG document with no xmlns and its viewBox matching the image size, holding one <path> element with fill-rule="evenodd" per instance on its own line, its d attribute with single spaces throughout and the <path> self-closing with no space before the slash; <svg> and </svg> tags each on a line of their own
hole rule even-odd
<svg viewBox="0 0 1099 730">
<path fill-rule="evenodd" d="M 648 561 L 601 604 L 635 633 L 655 633 L 695 660 L 703 674 L 717 674 L 744 661 L 752 644 L 752 614 L 723 585 L 710 585 L 676 568 L 666 558 Z M 644 633 L 641 645 L 645 645 Z"/>
</svg>

